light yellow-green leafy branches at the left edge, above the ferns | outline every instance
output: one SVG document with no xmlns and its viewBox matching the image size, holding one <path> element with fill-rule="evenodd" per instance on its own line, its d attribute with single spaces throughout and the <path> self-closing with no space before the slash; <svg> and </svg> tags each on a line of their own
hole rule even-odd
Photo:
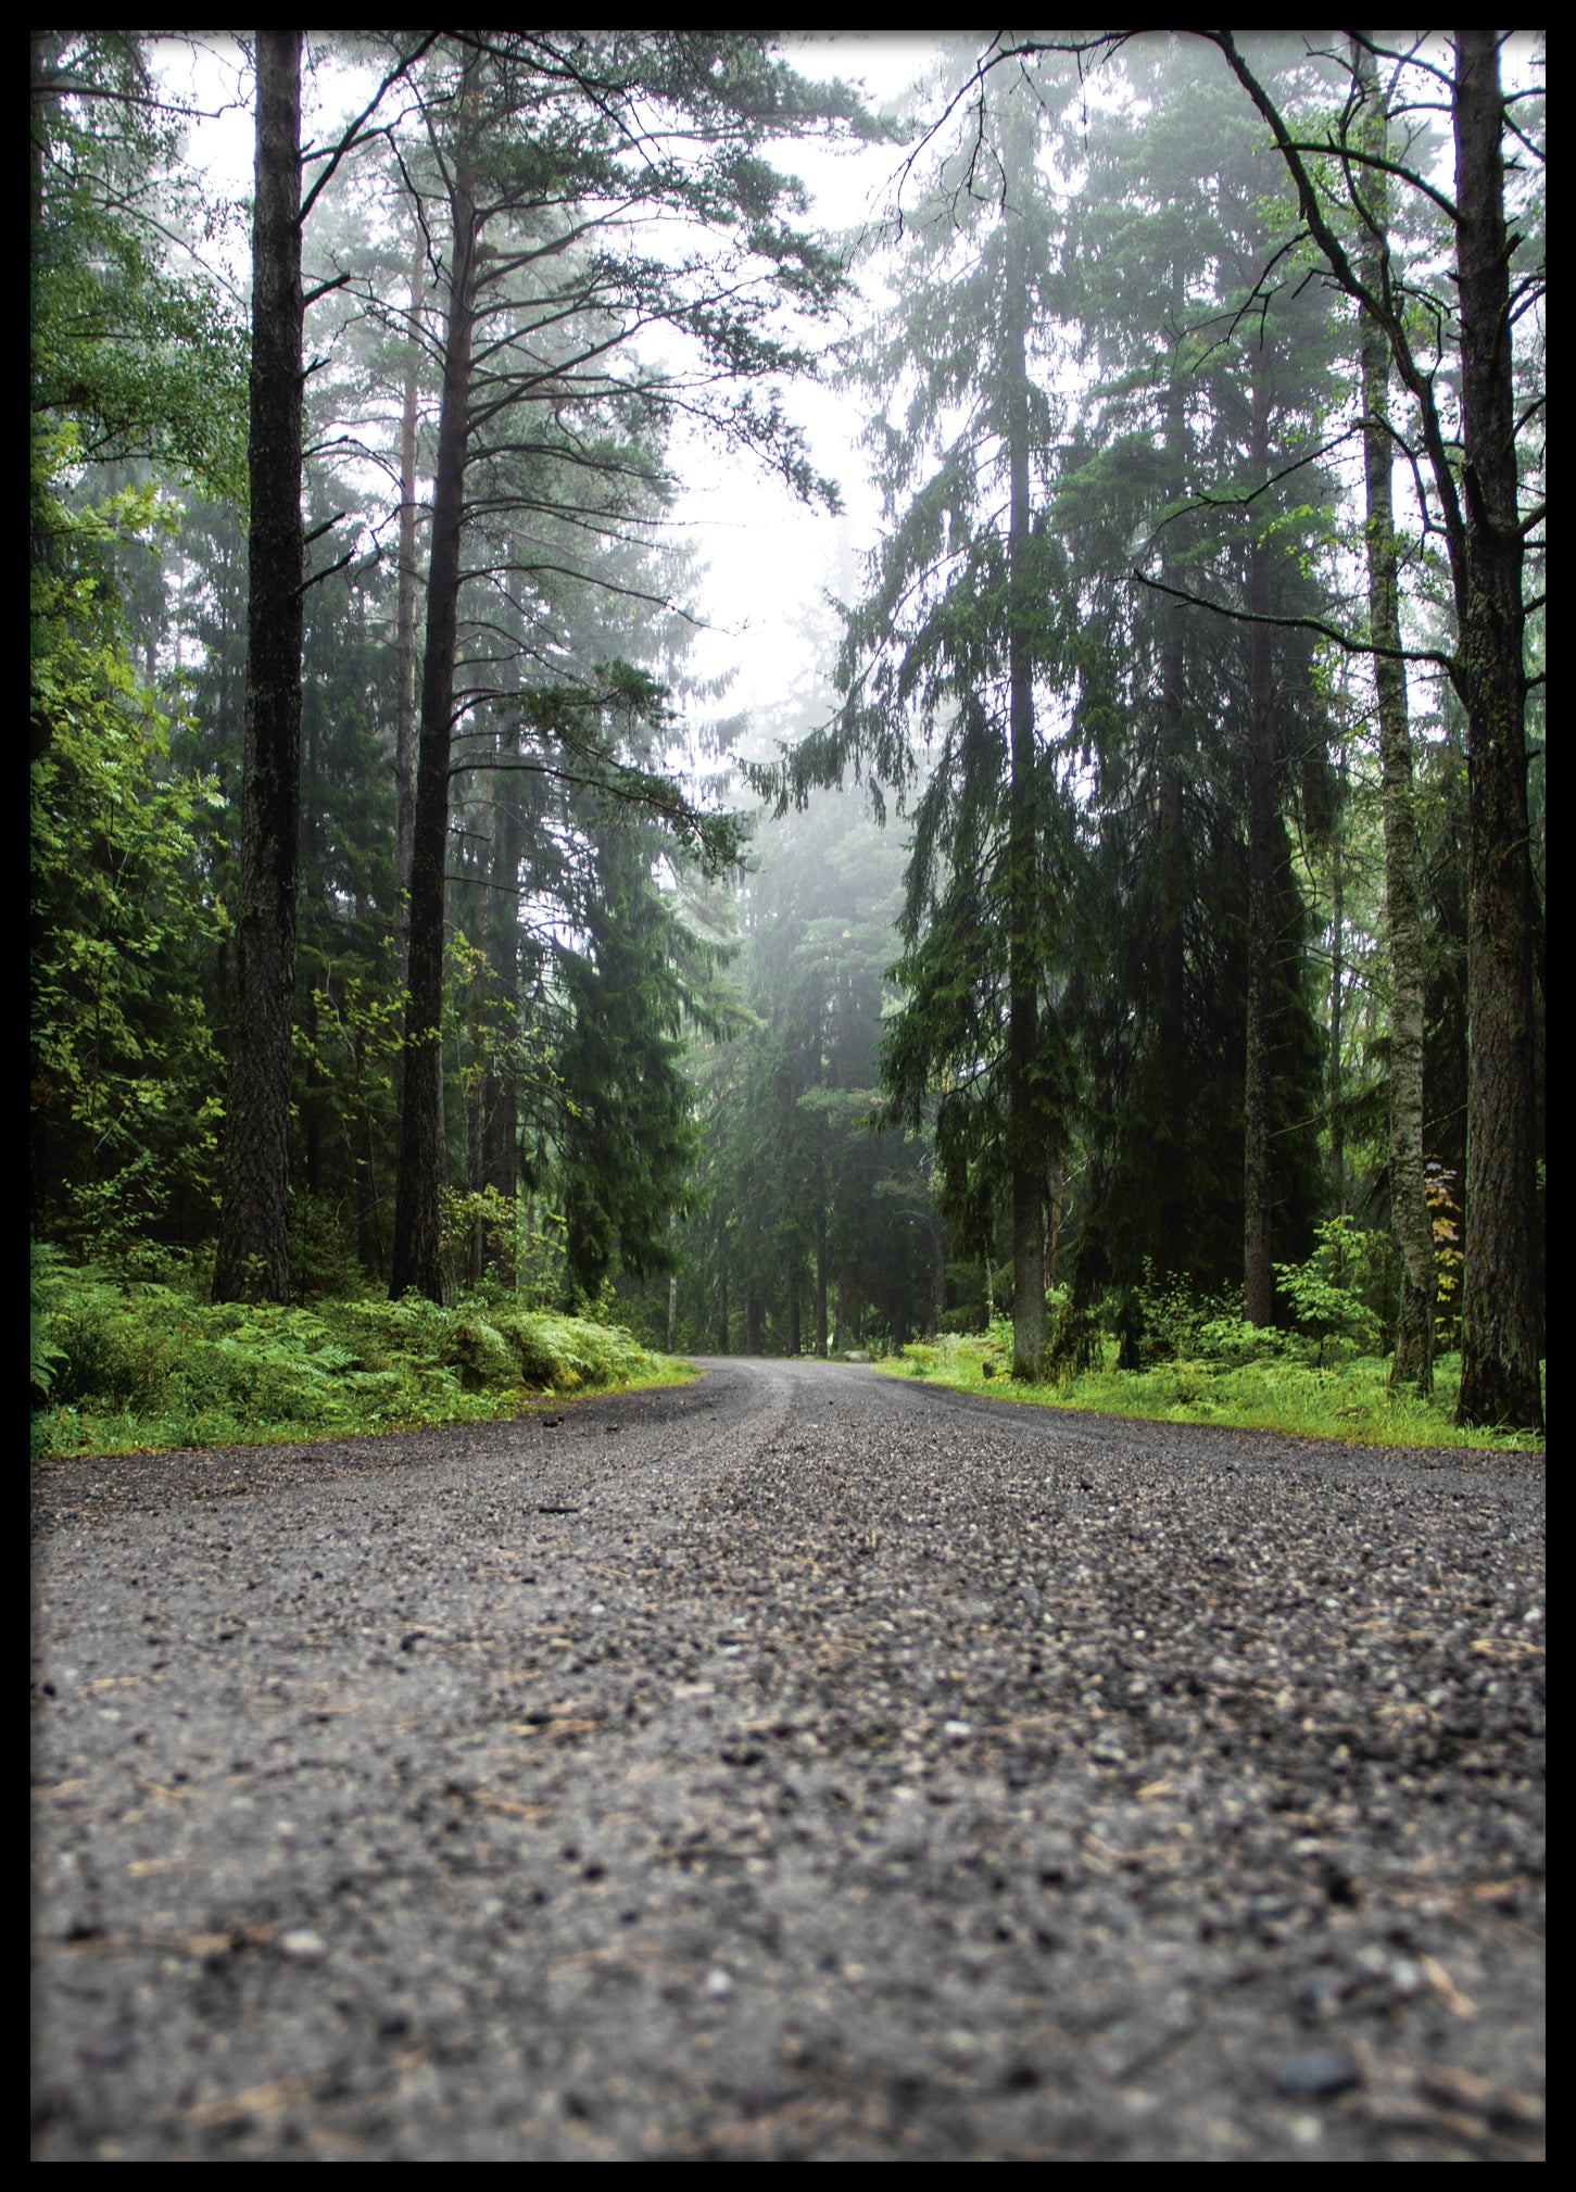
<svg viewBox="0 0 1576 2192">
<path fill-rule="evenodd" d="M 210 1212 L 221 1061 L 202 971 L 228 918 L 195 875 L 217 787 L 167 772 L 169 717 L 99 576 L 107 544 L 160 528 L 156 498 L 48 509 L 50 557 L 33 566 L 33 1212 L 92 1245 Z"/>
</svg>

